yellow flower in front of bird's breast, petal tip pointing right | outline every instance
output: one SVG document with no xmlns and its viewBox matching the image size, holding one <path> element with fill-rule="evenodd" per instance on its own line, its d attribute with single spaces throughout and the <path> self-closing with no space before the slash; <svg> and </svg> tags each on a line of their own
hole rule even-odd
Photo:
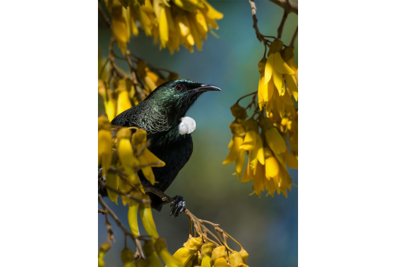
<svg viewBox="0 0 396 267">
<path fill-rule="evenodd" d="M 132 145 L 136 146 L 136 155 L 140 166 L 142 166 L 142 173 L 145 178 L 154 184 L 155 178 L 151 167 L 162 167 L 165 166 L 165 162 L 158 159 L 156 155 L 151 153 L 147 149 L 147 132 L 142 129 L 138 129 L 132 136 Z"/>
</svg>

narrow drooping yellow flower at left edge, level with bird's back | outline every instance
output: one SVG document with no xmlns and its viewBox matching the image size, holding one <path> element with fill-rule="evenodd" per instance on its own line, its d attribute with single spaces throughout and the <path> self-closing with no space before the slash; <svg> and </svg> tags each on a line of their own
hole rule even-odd
<svg viewBox="0 0 396 267">
<path fill-rule="evenodd" d="M 102 166 L 104 175 L 107 174 L 113 156 L 113 139 L 110 132 L 110 123 L 106 116 L 98 118 L 98 166 Z"/>
</svg>

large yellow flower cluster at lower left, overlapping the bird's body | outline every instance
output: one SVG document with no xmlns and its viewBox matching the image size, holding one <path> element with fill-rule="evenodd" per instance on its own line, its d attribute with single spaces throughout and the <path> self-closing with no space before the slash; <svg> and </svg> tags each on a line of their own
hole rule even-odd
<svg viewBox="0 0 396 267">
<path fill-rule="evenodd" d="M 135 130 L 132 134 L 131 130 Z M 122 203 L 129 205 L 128 222 L 133 236 L 140 236 L 138 215 L 145 231 L 150 236 L 145 241 L 143 250 L 147 255 L 147 265 L 140 259 L 136 266 L 163 266 L 159 258 L 168 266 L 181 267 L 180 261 L 167 251 L 164 239 L 160 239 L 151 213 L 150 198 L 145 193 L 138 170 L 142 170 L 145 178 L 154 184 L 152 167 L 165 166 L 147 148 L 147 132 L 138 128 L 111 128 L 105 115 L 98 118 L 98 165 L 102 167 L 102 175 L 106 178 L 106 189 L 110 200 L 117 204 L 118 196 Z M 111 169 L 111 171 L 110 171 Z M 104 266 L 104 255 L 110 249 L 110 242 L 103 243 L 99 248 L 98 266 Z M 121 252 L 124 266 L 135 266 L 133 250 L 124 248 Z M 159 265 L 158 265 L 159 264 Z"/>
</svg>

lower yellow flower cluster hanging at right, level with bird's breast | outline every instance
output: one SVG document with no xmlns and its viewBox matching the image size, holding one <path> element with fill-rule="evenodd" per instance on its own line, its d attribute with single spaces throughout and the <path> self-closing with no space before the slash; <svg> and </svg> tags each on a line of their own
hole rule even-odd
<svg viewBox="0 0 396 267">
<path fill-rule="evenodd" d="M 257 111 L 254 116 L 247 119 L 247 112 L 238 103 L 231 107 L 231 113 L 235 121 L 231 122 L 230 128 L 232 139 L 229 144 L 229 155 L 223 164 L 236 162 L 236 175 L 241 182 L 253 181 L 254 193 L 261 197 L 261 191 L 267 191 L 271 196 L 274 192 L 283 193 L 287 197 L 286 190 L 290 191 L 292 179 L 288 174 L 289 166 L 297 169 L 297 112 L 295 107 L 290 106 L 283 115 L 283 119 L 277 120 L 274 113 L 269 112 L 265 117 L 263 112 Z M 280 118 L 280 117 L 279 117 Z M 286 145 L 288 137 L 290 148 Z M 248 157 L 245 173 L 245 157 Z"/>
</svg>

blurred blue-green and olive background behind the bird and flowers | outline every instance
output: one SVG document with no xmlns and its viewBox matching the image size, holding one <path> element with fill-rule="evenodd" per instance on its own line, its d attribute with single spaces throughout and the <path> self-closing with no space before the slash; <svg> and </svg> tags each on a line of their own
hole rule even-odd
<svg viewBox="0 0 396 267">
<path fill-rule="evenodd" d="M 131 37 L 129 49 L 157 68 L 169 69 L 180 78 L 220 87 L 222 92 L 207 92 L 200 96 L 187 113 L 195 119 L 197 130 L 192 133 L 194 152 L 190 161 L 180 171 L 166 193 L 169 196 L 181 195 L 186 207 L 198 218 L 219 223 L 249 252 L 249 266 L 297 266 L 298 265 L 298 188 L 292 187 L 288 198 L 281 195 L 261 198 L 249 196 L 253 191 L 252 182 L 242 184 L 235 173 L 235 164 L 223 165 L 229 153 L 231 140 L 229 123 L 233 121 L 229 108 L 238 98 L 258 89 L 257 63 L 263 58 L 264 46 L 256 39 L 252 27 L 251 7 L 246 1 L 209 1 L 224 14 L 217 21 L 219 39 L 208 34 L 203 50 L 190 53 L 181 47 L 179 52 L 170 55 L 167 49 L 159 50 L 152 37 L 146 37 L 140 30 L 138 37 Z M 256 0 L 258 28 L 263 35 L 277 35 L 277 28 L 283 9 L 270 1 Z M 98 15 L 99 49 L 104 57 L 108 55 L 110 33 Z M 297 15 L 291 13 L 283 29 L 281 40 L 288 44 L 297 26 Z M 115 48 L 117 45 L 115 45 Z M 118 55 L 121 52 L 115 49 Z M 295 62 L 298 64 L 298 37 L 295 42 Z M 124 70 L 126 63 L 117 62 Z M 247 105 L 250 98 L 241 101 Z M 98 115 L 104 113 L 99 99 Z M 298 184 L 298 172 L 289 169 L 292 182 Z M 106 203 L 128 225 L 128 207 L 105 198 Z M 164 205 L 162 212 L 153 210 L 158 234 L 167 241 L 168 250 L 173 254 L 188 239 L 189 220 L 184 214 L 177 218 L 169 217 L 170 207 Z M 110 217 L 109 217 L 110 218 Z M 104 216 L 98 214 L 98 247 L 106 241 Z M 122 266 L 119 252 L 124 247 L 124 234 L 110 218 L 116 243 L 106 254 L 106 266 Z M 139 225 L 143 232 L 144 228 Z M 238 246 L 229 241 L 231 248 Z M 129 241 L 129 247 L 135 247 Z"/>
</svg>

